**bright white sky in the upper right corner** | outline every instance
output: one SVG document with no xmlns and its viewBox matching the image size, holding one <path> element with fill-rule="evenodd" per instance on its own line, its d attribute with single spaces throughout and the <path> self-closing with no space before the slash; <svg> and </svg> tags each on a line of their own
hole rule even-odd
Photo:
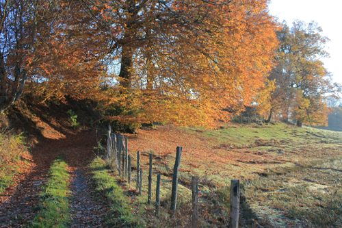
<svg viewBox="0 0 342 228">
<path fill-rule="evenodd" d="M 310 23 L 315 21 L 323 29 L 323 36 L 330 42 L 326 51 L 330 58 L 324 58 L 324 66 L 332 73 L 332 80 L 342 84 L 342 10 L 337 0 L 271 0 L 269 13 L 286 21 L 291 27 L 295 19 Z"/>
</svg>

